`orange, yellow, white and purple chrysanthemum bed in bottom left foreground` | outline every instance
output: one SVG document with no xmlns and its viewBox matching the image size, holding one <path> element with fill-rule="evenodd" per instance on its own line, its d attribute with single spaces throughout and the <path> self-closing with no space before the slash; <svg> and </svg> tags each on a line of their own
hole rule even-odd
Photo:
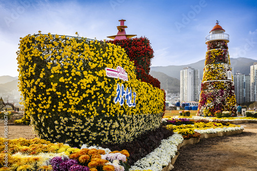
<svg viewBox="0 0 257 171">
<path fill-rule="evenodd" d="M 5 141 L 0 138 L 1 143 Z M 82 145 L 81 149 L 63 143 L 53 144 L 34 138 L 8 140 L 8 162 L 1 170 L 128 170 L 130 156 L 126 150 L 111 152 L 108 148 Z M 5 164 L 4 145 L 0 149 L 0 162 Z"/>
</svg>

